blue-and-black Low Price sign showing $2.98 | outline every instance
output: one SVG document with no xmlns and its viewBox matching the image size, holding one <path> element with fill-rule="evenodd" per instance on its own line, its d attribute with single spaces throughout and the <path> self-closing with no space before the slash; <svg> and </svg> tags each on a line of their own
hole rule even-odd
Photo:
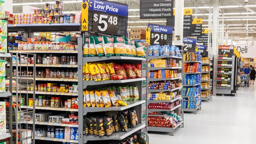
<svg viewBox="0 0 256 144">
<path fill-rule="evenodd" d="M 183 44 L 182 44 L 182 50 L 183 51 L 197 51 L 197 39 L 195 38 L 187 38 L 187 37 L 183 37 Z"/>
</svg>

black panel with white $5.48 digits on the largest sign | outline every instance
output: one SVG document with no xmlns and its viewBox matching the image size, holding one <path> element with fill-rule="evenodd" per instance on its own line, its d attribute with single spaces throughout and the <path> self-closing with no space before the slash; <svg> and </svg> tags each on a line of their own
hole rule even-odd
<svg viewBox="0 0 256 144">
<path fill-rule="evenodd" d="M 93 31 L 116 34 L 118 17 L 110 14 L 93 13 Z"/>
</svg>

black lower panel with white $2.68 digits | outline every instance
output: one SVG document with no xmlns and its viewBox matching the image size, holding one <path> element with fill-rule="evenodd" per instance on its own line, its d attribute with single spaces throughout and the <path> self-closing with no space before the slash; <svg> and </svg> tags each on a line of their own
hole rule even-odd
<svg viewBox="0 0 256 144">
<path fill-rule="evenodd" d="M 151 32 L 150 37 L 150 45 L 172 45 L 172 36 L 170 34 Z"/>
</svg>

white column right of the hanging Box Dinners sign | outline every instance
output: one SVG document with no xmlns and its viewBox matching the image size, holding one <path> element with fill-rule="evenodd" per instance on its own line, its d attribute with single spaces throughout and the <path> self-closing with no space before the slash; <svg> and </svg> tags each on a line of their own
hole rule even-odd
<svg viewBox="0 0 256 144">
<path fill-rule="evenodd" d="M 183 11 L 184 11 L 183 9 L 184 9 L 184 0 L 175 1 L 174 44 L 176 46 L 182 46 L 182 43 L 183 43 Z M 179 36 L 179 39 L 178 39 L 178 36 Z"/>
</svg>

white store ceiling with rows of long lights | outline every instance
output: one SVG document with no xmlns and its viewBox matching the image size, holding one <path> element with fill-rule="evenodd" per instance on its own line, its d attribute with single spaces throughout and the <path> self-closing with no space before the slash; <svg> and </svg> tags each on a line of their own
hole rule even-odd
<svg viewBox="0 0 256 144">
<path fill-rule="evenodd" d="M 64 1 L 64 0 L 63 0 Z M 66 1 L 66 0 L 65 0 Z M 113 0 L 112 0 L 113 1 Z M 166 19 L 139 19 L 139 0 L 116 0 L 117 2 L 127 3 L 129 5 L 129 18 L 128 18 L 128 29 L 131 27 L 143 27 L 146 26 L 147 23 L 157 23 L 157 24 L 166 24 Z M 208 27 L 208 16 L 209 16 L 209 6 L 212 3 L 212 0 L 184 0 L 184 7 L 193 8 L 194 17 L 203 19 L 203 28 Z M 225 24 L 228 24 L 229 32 L 234 33 L 234 37 L 236 40 L 243 40 L 242 38 L 246 38 L 246 26 L 247 21 L 245 16 L 255 16 L 255 18 L 248 19 L 248 37 L 251 40 L 256 39 L 256 12 L 252 13 L 234 3 L 232 0 L 219 0 L 219 10 L 220 13 L 224 16 L 243 16 L 244 18 L 226 18 Z M 235 0 L 236 2 L 245 5 L 244 0 Z M 49 2 L 49 0 L 13 0 L 13 3 L 16 5 L 13 6 L 14 13 L 22 13 L 22 5 L 21 3 L 30 3 L 27 5 L 31 5 L 34 7 L 43 8 L 44 4 L 33 4 L 33 3 L 41 3 L 41 2 Z M 53 0 L 50 2 L 54 2 Z M 74 2 L 68 1 L 70 3 L 64 4 L 64 12 L 74 13 L 75 11 L 81 11 L 81 1 Z M 196 14 L 196 7 L 197 14 Z M 256 0 L 249 0 L 249 5 L 247 5 L 251 10 L 256 11 Z M 207 15 L 208 14 L 208 15 Z M 221 15 L 220 15 L 221 16 Z M 143 22 L 144 21 L 144 22 Z M 154 22 L 157 21 L 157 22 Z M 229 37 L 231 34 L 229 34 Z M 245 40 L 245 39 L 244 39 Z"/>
</svg>

